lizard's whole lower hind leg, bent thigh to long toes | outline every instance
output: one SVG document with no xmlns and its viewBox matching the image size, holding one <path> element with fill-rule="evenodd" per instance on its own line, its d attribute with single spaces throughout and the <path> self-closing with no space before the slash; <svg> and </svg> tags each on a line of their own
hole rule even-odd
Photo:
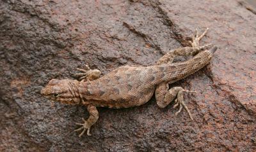
<svg viewBox="0 0 256 152">
<path fill-rule="evenodd" d="M 168 83 L 162 83 L 161 85 L 157 86 L 156 90 L 156 102 L 157 106 L 164 108 L 170 104 L 173 100 L 175 100 L 175 105 L 173 108 L 179 106 L 179 111 L 175 113 L 175 115 L 179 114 L 180 111 L 182 110 L 182 107 L 186 109 L 186 111 L 189 114 L 189 117 L 191 120 L 193 120 L 193 117 L 184 103 L 184 92 L 194 92 L 194 91 L 189 91 L 189 90 L 184 90 L 184 88 L 176 86 L 169 89 Z"/>
</svg>

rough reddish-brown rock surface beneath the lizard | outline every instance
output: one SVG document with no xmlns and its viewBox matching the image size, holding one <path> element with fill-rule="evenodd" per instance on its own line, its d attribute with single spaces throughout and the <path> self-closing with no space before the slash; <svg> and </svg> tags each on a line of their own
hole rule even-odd
<svg viewBox="0 0 256 152">
<path fill-rule="evenodd" d="M 255 151 L 256 16 L 234 0 L 0 1 L 0 151 Z M 186 111 L 99 108 L 92 137 L 74 128 L 81 106 L 40 95 L 52 78 L 89 64 L 103 73 L 152 65 L 188 45 L 195 28 L 219 46 L 211 64 L 175 83 Z"/>
</svg>

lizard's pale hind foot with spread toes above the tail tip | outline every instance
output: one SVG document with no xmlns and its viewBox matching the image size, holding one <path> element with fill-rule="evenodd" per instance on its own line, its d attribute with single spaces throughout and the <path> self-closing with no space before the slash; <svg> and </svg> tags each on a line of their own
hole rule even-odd
<svg viewBox="0 0 256 152">
<path fill-rule="evenodd" d="M 207 47 L 209 47 L 209 46 L 212 46 L 211 43 L 208 44 L 208 45 L 199 46 L 199 41 L 200 41 L 200 39 L 202 39 L 202 38 L 205 36 L 205 34 L 206 34 L 206 32 L 207 32 L 208 30 L 209 30 L 209 28 L 207 27 L 207 28 L 205 29 L 205 31 L 203 32 L 203 34 L 199 35 L 199 34 L 198 34 L 198 30 L 196 29 L 195 36 L 193 35 L 192 38 L 191 38 L 192 41 L 189 41 L 189 43 L 190 43 L 190 45 L 192 46 L 192 48 L 195 48 L 196 50 L 202 50 L 202 49 L 205 49 L 205 48 L 207 48 Z"/>
</svg>

